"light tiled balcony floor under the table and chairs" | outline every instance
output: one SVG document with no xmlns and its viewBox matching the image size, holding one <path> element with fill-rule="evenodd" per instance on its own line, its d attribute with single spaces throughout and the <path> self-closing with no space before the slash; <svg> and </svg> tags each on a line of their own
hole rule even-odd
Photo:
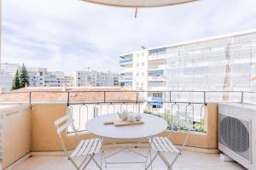
<svg viewBox="0 0 256 170">
<path fill-rule="evenodd" d="M 107 150 L 110 153 L 113 150 Z M 141 149 L 141 153 L 145 154 L 146 150 Z M 168 156 L 172 158 L 171 156 Z M 134 161 L 139 160 L 131 152 L 120 153 L 113 158 L 114 161 Z M 100 156 L 96 156 L 96 160 L 100 160 Z M 77 161 L 81 161 L 78 158 Z M 122 165 L 108 165 L 106 170 L 143 170 L 143 164 L 122 164 Z M 21 163 L 15 170 L 71 170 L 75 169 L 70 161 L 65 156 L 32 156 Z M 95 170 L 96 165 L 90 163 L 86 169 Z M 154 170 L 165 170 L 166 167 L 160 159 L 156 159 L 153 164 Z M 245 170 L 239 164 L 233 161 L 221 161 L 218 154 L 202 154 L 184 151 L 183 155 L 179 157 L 173 170 Z"/>
</svg>

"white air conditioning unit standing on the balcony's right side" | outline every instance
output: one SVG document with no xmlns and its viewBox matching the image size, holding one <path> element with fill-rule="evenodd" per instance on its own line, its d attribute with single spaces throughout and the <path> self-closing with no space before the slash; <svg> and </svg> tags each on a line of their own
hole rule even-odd
<svg viewBox="0 0 256 170">
<path fill-rule="evenodd" d="M 218 150 L 243 167 L 256 169 L 256 105 L 218 105 Z"/>
</svg>

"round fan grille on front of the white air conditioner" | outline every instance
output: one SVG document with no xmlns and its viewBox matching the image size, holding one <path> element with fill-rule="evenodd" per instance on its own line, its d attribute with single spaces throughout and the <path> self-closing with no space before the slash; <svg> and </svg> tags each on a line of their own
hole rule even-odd
<svg viewBox="0 0 256 170">
<path fill-rule="evenodd" d="M 219 114 L 219 143 L 251 160 L 250 122 Z"/>
</svg>

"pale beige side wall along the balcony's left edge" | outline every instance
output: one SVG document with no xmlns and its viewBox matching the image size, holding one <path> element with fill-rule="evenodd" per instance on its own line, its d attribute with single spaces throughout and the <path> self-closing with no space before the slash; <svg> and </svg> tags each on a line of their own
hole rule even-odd
<svg viewBox="0 0 256 170">
<path fill-rule="evenodd" d="M 3 164 L 9 167 L 30 152 L 31 114 L 29 105 L 16 105 L 0 110 L 3 114 Z"/>
</svg>

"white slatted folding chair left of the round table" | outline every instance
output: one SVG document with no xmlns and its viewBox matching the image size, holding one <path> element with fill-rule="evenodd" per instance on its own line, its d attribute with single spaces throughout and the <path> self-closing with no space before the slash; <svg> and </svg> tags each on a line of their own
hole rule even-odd
<svg viewBox="0 0 256 170">
<path fill-rule="evenodd" d="M 79 144 L 73 150 L 72 154 L 68 153 L 66 144 L 65 144 L 64 140 L 62 139 L 62 135 L 61 135 L 61 133 L 64 130 L 66 130 L 67 127 L 69 127 L 70 125 L 73 127 L 74 133 L 79 142 Z M 61 139 L 61 146 L 65 152 L 65 155 L 68 157 L 68 160 L 70 160 L 73 163 L 73 166 L 77 170 L 85 169 L 85 167 L 88 166 L 90 161 L 94 161 L 96 163 L 96 166 L 102 170 L 102 167 L 97 163 L 97 161 L 94 158 L 94 156 L 97 153 L 99 153 L 99 151 L 102 149 L 102 139 L 99 139 L 99 138 L 79 139 L 77 130 L 75 129 L 75 127 L 73 125 L 73 117 L 72 117 L 72 113 L 71 113 L 70 109 L 67 109 L 66 116 L 62 116 L 60 119 L 55 121 L 55 127 L 57 127 L 57 133 Z M 74 158 L 78 157 L 78 156 L 85 156 L 84 160 L 80 163 L 80 165 L 74 161 Z"/>
</svg>

